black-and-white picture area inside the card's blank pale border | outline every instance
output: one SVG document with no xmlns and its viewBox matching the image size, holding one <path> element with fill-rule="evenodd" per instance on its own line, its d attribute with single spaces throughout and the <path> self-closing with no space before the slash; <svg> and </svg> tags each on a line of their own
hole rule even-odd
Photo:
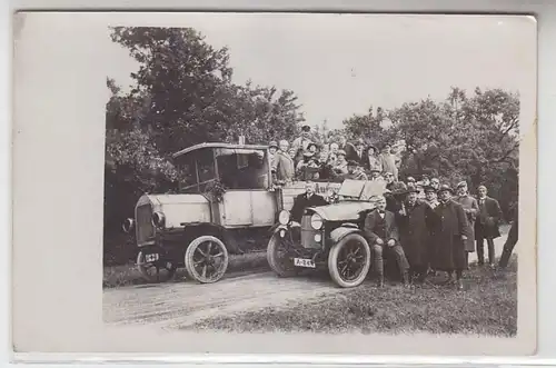
<svg viewBox="0 0 556 368">
<path fill-rule="evenodd" d="M 107 28 L 103 324 L 518 335 L 532 19 L 182 23 Z"/>
</svg>

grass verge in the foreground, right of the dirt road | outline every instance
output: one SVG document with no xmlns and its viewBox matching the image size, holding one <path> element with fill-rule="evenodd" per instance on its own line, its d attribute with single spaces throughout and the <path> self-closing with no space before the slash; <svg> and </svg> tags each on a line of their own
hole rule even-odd
<svg viewBox="0 0 556 368">
<path fill-rule="evenodd" d="M 413 289 L 399 285 L 377 289 L 374 285 L 366 281 L 358 288 L 341 290 L 319 301 L 202 320 L 192 328 L 235 332 L 516 335 L 515 258 L 505 272 L 471 266 L 466 273 L 465 291 L 435 284 Z"/>
</svg>

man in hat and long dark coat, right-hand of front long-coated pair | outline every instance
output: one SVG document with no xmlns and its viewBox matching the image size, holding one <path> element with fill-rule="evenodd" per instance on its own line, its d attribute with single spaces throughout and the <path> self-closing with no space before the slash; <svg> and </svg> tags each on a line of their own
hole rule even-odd
<svg viewBox="0 0 556 368">
<path fill-rule="evenodd" d="M 467 217 L 464 208 L 451 199 L 454 190 L 441 185 L 438 188 L 439 203 L 434 209 L 436 213 L 436 223 L 434 227 L 435 248 L 431 259 L 431 268 L 448 273 L 447 284 L 454 281 L 454 271 L 456 273 L 456 285 L 463 289 L 463 271 L 466 269 L 465 240 L 468 238 Z"/>
</svg>

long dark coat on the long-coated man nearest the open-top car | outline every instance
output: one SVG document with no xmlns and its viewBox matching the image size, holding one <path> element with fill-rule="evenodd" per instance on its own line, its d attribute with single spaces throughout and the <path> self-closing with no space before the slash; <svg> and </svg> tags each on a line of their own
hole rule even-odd
<svg viewBox="0 0 556 368">
<path fill-rule="evenodd" d="M 420 200 L 413 207 L 406 205 L 406 215 L 398 213 L 400 242 L 411 267 L 428 266 L 434 221 L 433 208 Z"/>
</svg>

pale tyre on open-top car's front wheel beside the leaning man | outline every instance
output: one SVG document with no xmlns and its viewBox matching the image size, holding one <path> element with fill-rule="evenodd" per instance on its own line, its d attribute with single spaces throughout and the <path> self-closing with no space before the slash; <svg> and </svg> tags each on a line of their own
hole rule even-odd
<svg viewBox="0 0 556 368">
<path fill-rule="evenodd" d="M 359 271 L 355 272 L 355 277 L 348 278 L 344 273 L 344 270 L 340 270 L 338 262 L 342 263 L 347 260 L 347 253 L 350 249 L 359 249 L 357 253 L 354 256 L 357 262 L 357 257 L 360 252 L 361 256 L 361 268 Z M 359 286 L 370 269 L 370 247 L 367 240 L 358 233 L 349 233 L 340 239 L 336 245 L 330 248 L 330 252 L 328 255 L 328 271 L 334 282 L 341 288 L 353 288 Z M 349 262 L 349 260 L 347 260 Z M 349 263 L 351 265 L 351 263 Z M 356 263 L 354 263 L 356 265 Z M 349 266 L 347 266 L 349 267 Z M 358 268 L 357 268 L 358 269 Z"/>
</svg>

